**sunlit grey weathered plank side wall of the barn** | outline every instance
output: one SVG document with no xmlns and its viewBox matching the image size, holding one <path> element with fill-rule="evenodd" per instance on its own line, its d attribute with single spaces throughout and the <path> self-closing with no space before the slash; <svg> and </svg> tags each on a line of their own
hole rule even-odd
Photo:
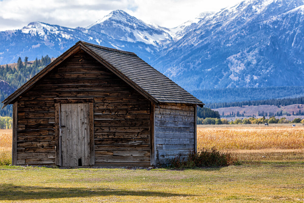
<svg viewBox="0 0 304 203">
<path fill-rule="evenodd" d="M 155 107 L 156 163 L 168 163 L 194 150 L 195 120 L 194 106 L 168 103 Z"/>
</svg>

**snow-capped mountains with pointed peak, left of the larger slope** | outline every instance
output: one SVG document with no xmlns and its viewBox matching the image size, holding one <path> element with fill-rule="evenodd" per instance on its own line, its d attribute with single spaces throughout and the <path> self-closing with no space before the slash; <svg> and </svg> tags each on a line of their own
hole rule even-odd
<svg viewBox="0 0 304 203">
<path fill-rule="evenodd" d="M 20 57 L 30 60 L 41 55 L 57 57 L 83 40 L 106 47 L 136 52 L 146 61 L 168 43 L 171 36 L 123 11 L 113 11 L 88 28 L 68 28 L 32 22 L 20 30 L 0 32 L 0 64 L 16 62 Z"/>
</svg>

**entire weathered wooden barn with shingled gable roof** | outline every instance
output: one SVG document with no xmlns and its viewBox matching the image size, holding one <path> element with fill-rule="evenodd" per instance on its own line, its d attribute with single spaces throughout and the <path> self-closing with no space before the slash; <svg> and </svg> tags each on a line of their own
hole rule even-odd
<svg viewBox="0 0 304 203">
<path fill-rule="evenodd" d="M 13 165 L 150 166 L 196 150 L 204 104 L 136 54 L 83 41 L 4 101 Z"/>
</svg>

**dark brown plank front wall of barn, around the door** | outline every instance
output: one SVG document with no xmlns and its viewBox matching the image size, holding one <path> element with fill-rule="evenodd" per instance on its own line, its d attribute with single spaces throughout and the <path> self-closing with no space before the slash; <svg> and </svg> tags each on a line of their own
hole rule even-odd
<svg viewBox="0 0 304 203">
<path fill-rule="evenodd" d="M 54 98 L 94 98 L 95 164 L 150 165 L 150 102 L 81 51 L 18 100 L 17 164 L 55 164 Z"/>
</svg>

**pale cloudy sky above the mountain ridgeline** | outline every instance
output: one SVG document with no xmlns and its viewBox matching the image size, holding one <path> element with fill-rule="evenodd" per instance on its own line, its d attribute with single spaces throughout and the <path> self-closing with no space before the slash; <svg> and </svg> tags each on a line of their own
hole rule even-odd
<svg viewBox="0 0 304 203">
<path fill-rule="evenodd" d="M 20 29 L 33 21 L 86 27 L 121 9 L 145 22 L 176 27 L 199 13 L 218 11 L 241 0 L 0 0 L 0 30 Z"/>
</svg>

